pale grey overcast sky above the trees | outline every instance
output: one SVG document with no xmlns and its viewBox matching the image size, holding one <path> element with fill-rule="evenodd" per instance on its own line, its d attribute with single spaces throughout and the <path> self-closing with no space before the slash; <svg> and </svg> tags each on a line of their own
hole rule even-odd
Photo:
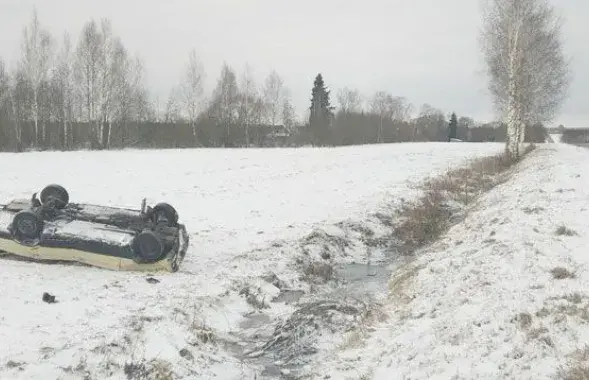
<svg viewBox="0 0 589 380">
<path fill-rule="evenodd" d="M 554 4 L 566 19 L 575 76 L 556 123 L 589 126 L 589 1 Z M 479 0 L 0 0 L 0 56 L 9 65 L 33 7 L 60 38 L 67 30 L 77 39 L 89 19 L 110 18 L 162 101 L 195 48 L 209 89 L 223 61 L 238 74 L 248 62 L 258 82 L 276 69 L 300 113 L 321 72 L 334 95 L 343 86 L 368 96 L 386 90 L 417 108 L 492 117 L 477 45 Z"/>
</svg>

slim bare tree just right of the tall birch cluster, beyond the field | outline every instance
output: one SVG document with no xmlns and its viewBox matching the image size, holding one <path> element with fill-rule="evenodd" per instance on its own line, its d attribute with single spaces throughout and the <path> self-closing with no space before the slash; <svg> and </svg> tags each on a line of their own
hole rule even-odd
<svg viewBox="0 0 589 380">
<path fill-rule="evenodd" d="M 196 50 L 191 50 L 188 56 L 184 77 L 180 85 L 180 94 L 182 96 L 182 105 L 188 116 L 192 135 L 196 143 L 198 138 L 196 134 L 196 122 L 203 108 L 205 71 L 204 66 L 198 59 Z"/>
</svg>

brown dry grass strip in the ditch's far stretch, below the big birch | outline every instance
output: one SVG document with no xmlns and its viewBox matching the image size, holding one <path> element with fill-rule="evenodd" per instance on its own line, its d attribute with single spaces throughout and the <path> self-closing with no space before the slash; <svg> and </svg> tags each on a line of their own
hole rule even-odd
<svg viewBox="0 0 589 380">
<path fill-rule="evenodd" d="M 533 147 L 527 152 L 531 150 Z M 437 240 L 460 219 L 466 206 L 504 181 L 502 174 L 517 162 L 498 154 L 473 160 L 467 167 L 427 181 L 425 194 L 401 209 L 402 222 L 394 228 L 394 235 L 404 243 L 403 253 L 413 253 Z"/>
</svg>

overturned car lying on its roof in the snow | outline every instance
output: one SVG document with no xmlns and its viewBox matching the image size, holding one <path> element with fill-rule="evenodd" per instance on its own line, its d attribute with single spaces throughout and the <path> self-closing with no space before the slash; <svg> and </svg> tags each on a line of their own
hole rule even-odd
<svg viewBox="0 0 589 380">
<path fill-rule="evenodd" d="M 38 261 L 114 270 L 176 272 L 188 249 L 186 228 L 167 203 L 140 210 L 71 203 L 65 188 L 0 205 L 0 251 Z"/>
</svg>

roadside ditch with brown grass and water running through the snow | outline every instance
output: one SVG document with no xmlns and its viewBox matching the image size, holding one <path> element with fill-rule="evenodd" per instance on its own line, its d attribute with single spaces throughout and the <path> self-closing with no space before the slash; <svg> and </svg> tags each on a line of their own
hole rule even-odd
<svg viewBox="0 0 589 380">
<path fill-rule="evenodd" d="M 464 220 L 477 198 L 507 181 L 518 162 L 502 154 L 473 160 L 426 180 L 415 189 L 417 200 L 388 214 L 313 231 L 294 247 L 297 281 L 264 275 L 277 289 L 270 301 L 252 289 L 242 292 L 252 312 L 225 348 L 258 368 L 260 379 L 304 379 L 319 352 L 357 344 L 373 322 L 387 318 L 380 305 L 393 271 Z M 277 317 L 270 310 L 278 304 L 294 312 Z"/>
</svg>

